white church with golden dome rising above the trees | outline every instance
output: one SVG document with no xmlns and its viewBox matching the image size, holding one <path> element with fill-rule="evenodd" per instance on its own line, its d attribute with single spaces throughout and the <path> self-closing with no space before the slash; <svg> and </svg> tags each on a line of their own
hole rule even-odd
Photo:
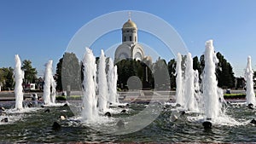
<svg viewBox="0 0 256 144">
<path fill-rule="evenodd" d="M 115 50 L 114 60 L 143 60 L 152 63 L 150 56 L 145 56 L 143 47 L 137 43 L 137 25 L 131 18 L 122 27 L 122 44 Z"/>
</svg>

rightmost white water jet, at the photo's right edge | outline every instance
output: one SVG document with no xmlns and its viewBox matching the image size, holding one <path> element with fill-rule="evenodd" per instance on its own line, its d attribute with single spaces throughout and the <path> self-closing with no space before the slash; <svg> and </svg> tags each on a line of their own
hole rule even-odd
<svg viewBox="0 0 256 144">
<path fill-rule="evenodd" d="M 253 70 L 251 66 L 251 56 L 247 57 L 247 67 L 245 70 L 246 88 L 247 88 L 247 105 L 253 104 L 255 106 L 255 94 L 253 90 Z"/>
</svg>

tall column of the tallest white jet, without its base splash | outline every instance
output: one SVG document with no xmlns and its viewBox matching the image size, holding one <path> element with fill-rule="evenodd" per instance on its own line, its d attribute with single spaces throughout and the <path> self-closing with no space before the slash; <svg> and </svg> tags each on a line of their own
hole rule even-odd
<svg viewBox="0 0 256 144">
<path fill-rule="evenodd" d="M 219 96 L 217 78 L 215 75 L 218 58 L 215 55 L 212 40 L 206 42 L 205 68 L 203 73 L 203 98 L 207 119 L 215 120 L 219 112 Z"/>
</svg>

